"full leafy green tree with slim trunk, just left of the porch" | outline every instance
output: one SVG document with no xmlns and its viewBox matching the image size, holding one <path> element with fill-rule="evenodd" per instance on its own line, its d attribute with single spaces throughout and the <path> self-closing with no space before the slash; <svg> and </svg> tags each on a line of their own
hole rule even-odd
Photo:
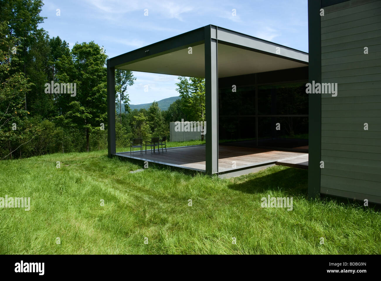
<svg viewBox="0 0 381 281">
<path fill-rule="evenodd" d="M 60 93 L 69 102 L 68 111 L 61 117 L 84 131 L 86 151 L 90 151 L 90 134 L 100 123 L 107 123 L 107 92 L 106 92 L 106 54 L 101 52 L 99 45 L 93 41 L 82 44 L 76 43 L 70 58 L 62 56 L 60 68 L 62 73 L 57 75 L 62 83 L 76 83 L 76 95 Z M 62 64 L 62 62 L 65 62 Z M 70 80 L 66 80 L 70 79 Z"/>
</svg>

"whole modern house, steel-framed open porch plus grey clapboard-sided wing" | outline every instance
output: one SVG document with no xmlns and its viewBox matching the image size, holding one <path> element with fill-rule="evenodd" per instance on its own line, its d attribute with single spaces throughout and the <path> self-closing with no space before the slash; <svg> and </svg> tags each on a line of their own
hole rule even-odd
<svg viewBox="0 0 381 281">
<path fill-rule="evenodd" d="M 308 168 L 311 197 L 381 203 L 381 1 L 309 0 L 308 12 L 309 55 L 208 25 L 107 60 L 109 156 L 219 177 Z M 117 152 L 115 69 L 205 78 L 206 145 Z M 307 83 L 337 83 L 337 96 Z"/>
</svg>

